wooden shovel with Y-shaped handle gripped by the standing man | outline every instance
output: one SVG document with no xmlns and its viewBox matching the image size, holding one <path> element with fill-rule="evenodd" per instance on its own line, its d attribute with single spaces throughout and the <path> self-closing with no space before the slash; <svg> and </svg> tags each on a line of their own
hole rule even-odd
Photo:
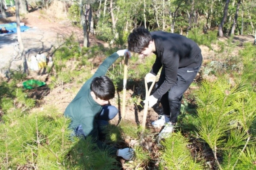
<svg viewBox="0 0 256 170">
<path fill-rule="evenodd" d="M 146 120 L 148 115 L 148 97 L 150 96 L 150 92 L 152 91 L 154 84 L 156 82 L 156 78 L 154 78 L 149 90 L 148 90 L 148 83 L 145 78 L 145 89 L 146 89 L 146 96 L 145 96 L 145 105 L 144 105 L 144 113 L 143 113 L 143 120 L 142 120 L 142 132 L 141 132 L 141 141 L 144 136 L 145 126 L 146 126 Z"/>
</svg>

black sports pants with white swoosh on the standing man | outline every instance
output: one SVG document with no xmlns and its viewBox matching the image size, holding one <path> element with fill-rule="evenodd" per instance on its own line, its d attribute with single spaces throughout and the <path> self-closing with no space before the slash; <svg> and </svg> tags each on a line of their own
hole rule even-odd
<svg viewBox="0 0 256 170">
<path fill-rule="evenodd" d="M 161 97 L 161 104 L 163 106 L 163 114 L 170 115 L 170 122 L 175 124 L 178 121 L 178 115 L 180 114 L 181 100 L 184 92 L 189 88 L 198 71 L 201 68 L 201 64 L 198 67 L 190 68 L 184 67 L 178 69 L 178 76 L 176 83 L 171 89 Z M 163 66 L 156 88 L 165 80 L 165 68 Z"/>
</svg>

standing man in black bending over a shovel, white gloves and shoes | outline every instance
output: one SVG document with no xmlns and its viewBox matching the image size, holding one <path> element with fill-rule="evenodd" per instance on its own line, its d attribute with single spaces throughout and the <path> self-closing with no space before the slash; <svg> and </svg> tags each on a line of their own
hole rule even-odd
<svg viewBox="0 0 256 170">
<path fill-rule="evenodd" d="M 139 27 L 128 37 L 128 50 L 140 57 L 156 55 L 152 70 L 145 76 L 147 82 L 152 81 L 162 68 L 156 91 L 149 96 L 148 103 L 152 107 L 160 99 L 163 115 L 152 125 L 165 125 L 159 137 L 168 137 L 178 121 L 182 96 L 200 70 L 201 49 L 196 42 L 182 35 L 163 31 L 150 33 Z"/>
</svg>

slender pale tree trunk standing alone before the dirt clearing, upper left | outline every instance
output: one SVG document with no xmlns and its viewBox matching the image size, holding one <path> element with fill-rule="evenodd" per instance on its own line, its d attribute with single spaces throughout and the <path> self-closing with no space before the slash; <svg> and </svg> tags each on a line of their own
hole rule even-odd
<svg viewBox="0 0 256 170">
<path fill-rule="evenodd" d="M 15 0 L 15 6 L 16 6 L 15 15 L 16 15 L 16 22 L 17 22 L 17 39 L 18 39 L 19 46 L 20 46 L 20 57 L 22 59 L 23 73 L 28 74 L 28 65 L 27 65 L 26 56 L 24 54 L 24 46 L 23 46 L 23 42 L 21 39 L 21 31 L 20 31 L 20 13 L 19 13 L 20 2 L 19 2 L 19 0 Z"/>
</svg>

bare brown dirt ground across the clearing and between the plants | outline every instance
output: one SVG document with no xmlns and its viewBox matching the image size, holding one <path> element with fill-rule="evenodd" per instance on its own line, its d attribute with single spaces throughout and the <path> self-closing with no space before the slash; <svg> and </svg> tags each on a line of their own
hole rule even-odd
<svg viewBox="0 0 256 170">
<path fill-rule="evenodd" d="M 10 15 L 7 19 L 0 18 L 0 24 L 6 24 L 10 22 L 16 22 L 16 18 L 14 15 Z M 82 43 L 83 40 L 83 31 L 81 29 L 75 28 L 68 20 L 57 20 L 53 17 L 46 17 L 43 15 L 41 10 L 36 10 L 31 13 L 28 13 L 26 17 L 22 18 L 21 22 L 24 22 L 26 26 L 29 26 L 31 29 L 22 32 L 22 41 L 25 48 L 26 57 L 31 57 L 32 55 L 36 54 L 45 54 L 48 58 L 53 55 L 53 52 L 58 46 L 64 42 L 66 38 L 68 38 L 71 34 L 74 34 L 77 38 L 77 41 Z M 17 69 L 19 65 L 21 65 L 21 59 L 17 58 L 13 61 L 13 49 L 15 42 L 13 42 L 13 34 L 5 34 L 0 35 L 0 70 L 2 74 L 6 72 L 8 69 Z M 224 41 L 228 39 L 228 37 L 224 37 L 219 39 L 220 41 Z M 107 43 L 102 42 L 94 38 L 93 36 L 89 39 L 92 45 L 94 44 L 103 44 L 104 46 L 108 46 Z M 244 42 L 253 42 L 254 36 L 250 35 L 237 35 L 234 37 L 236 44 L 240 44 L 235 48 L 232 52 L 233 55 L 236 55 L 239 50 L 243 48 Z M 206 46 L 200 46 L 202 50 L 202 55 L 204 57 L 204 62 L 212 61 L 215 57 L 213 50 L 210 50 Z M 231 54 L 231 55 L 232 55 Z M 99 59 L 94 59 L 93 61 L 102 61 L 100 57 L 96 56 L 95 58 L 99 57 Z M 93 62 L 92 61 L 92 62 Z M 131 66 L 132 67 L 132 66 Z M 48 77 L 48 74 L 39 70 L 39 72 L 30 72 L 29 78 L 39 79 L 41 81 L 45 81 L 46 84 L 49 83 L 51 80 Z M 210 76 L 208 79 L 215 79 L 214 77 Z M 47 86 L 40 87 L 34 90 L 29 91 L 29 96 L 40 99 L 40 104 L 37 105 L 34 109 L 42 110 L 48 104 L 54 104 L 56 107 L 60 109 L 61 112 L 64 112 L 65 108 L 69 104 L 69 102 L 74 98 L 74 94 L 70 91 L 65 89 L 71 89 L 71 87 L 77 86 L 75 84 L 64 84 L 63 86 L 58 86 L 52 90 L 50 90 Z M 77 87 L 79 89 L 80 87 Z M 193 90 L 195 87 L 189 87 L 189 89 L 185 92 L 184 98 Z M 122 93 L 119 91 L 119 93 Z M 126 94 L 127 98 L 132 97 L 134 93 L 133 89 L 128 89 L 128 94 Z M 118 103 L 116 98 L 111 100 L 111 104 L 115 105 L 116 107 L 121 110 L 121 106 Z M 161 112 L 159 107 L 150 108 L 148 109 L 148 116 L 147 116 L 147 127 L 150 128 L 152 133 L 157 134 L 161 129 L 152 128 L 151 122 L 156 120 L 158 114 Z M 126 107 L 126 114 L 125 120 L 131 122 L 132 124 L 137 125 L 138 123 L 142 122 L 143 118 L 143 108 L 138 109 L 135 105 L 128 105 Z M 113 124 L 117 124 L 119 117 L 116 116 L 111 122 Z M 154 146 L 152 146 L 154 147 Z"/>
</svg>

